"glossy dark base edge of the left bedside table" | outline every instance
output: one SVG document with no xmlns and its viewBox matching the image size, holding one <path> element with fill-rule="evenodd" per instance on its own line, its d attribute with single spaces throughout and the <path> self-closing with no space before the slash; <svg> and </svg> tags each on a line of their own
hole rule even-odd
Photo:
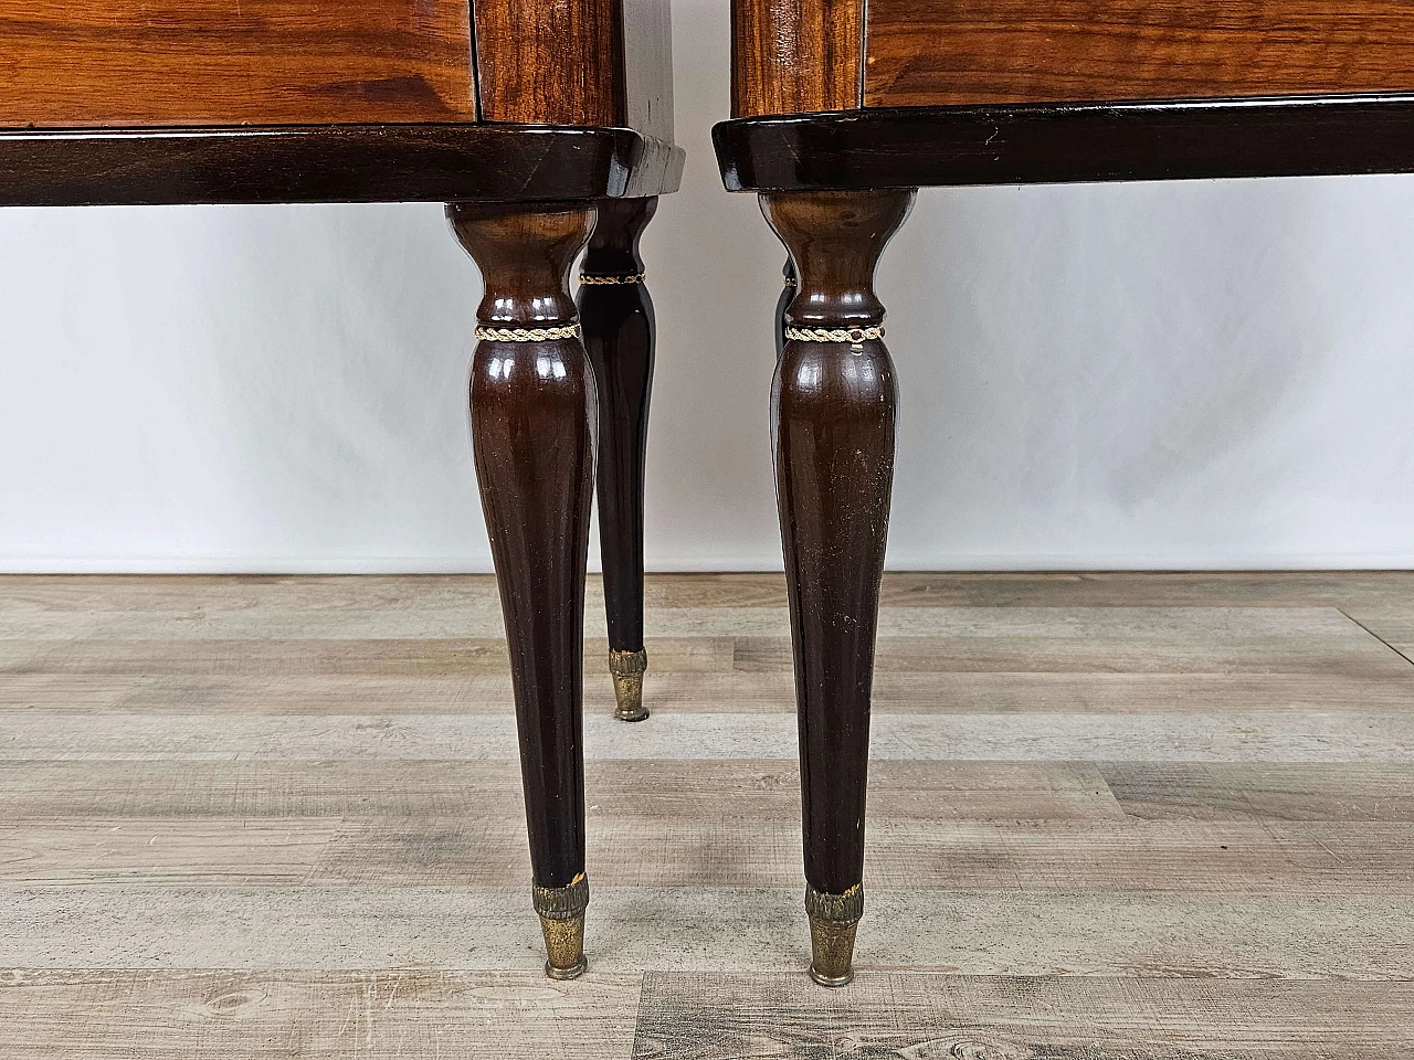
<svg viewBox="0 0 1414 1060">
<path fill-rule="evenodd" d="M 639 198 L 676 191 L 683 161 L 632 129 L 13 129 L 0 206 Z"/>
</svg>

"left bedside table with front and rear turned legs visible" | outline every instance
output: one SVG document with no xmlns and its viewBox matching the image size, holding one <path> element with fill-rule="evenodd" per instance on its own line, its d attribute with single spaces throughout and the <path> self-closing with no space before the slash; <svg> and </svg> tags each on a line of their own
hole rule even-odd
<svg viewBox="0 0 1414 1060">
<path fill-rule="evenodd" d="M 638 239 L 683 165 L 669 38 L 669 0 L 0 0 L 0 205 L 448 204 L 485 278 L 472 438 L 556 978 L 584 970 L 595 416 L 609 666 L 645 715 Z"/>
</svg>

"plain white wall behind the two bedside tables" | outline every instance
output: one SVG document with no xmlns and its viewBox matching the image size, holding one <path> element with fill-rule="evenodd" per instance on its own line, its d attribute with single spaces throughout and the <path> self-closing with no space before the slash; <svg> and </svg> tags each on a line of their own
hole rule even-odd
<svg viewBox="0 0 1414 1060">
<path fill-rule="evenodd" d="M 779 565 L 782 260 L 677 0 L 656 570 Z M 0 211 L 0 570 L 486 570 L 437 206 Z M 895 567 L 1414 565 L 1414 178 L 925 192 L 880 291 Z"/>
</svg>

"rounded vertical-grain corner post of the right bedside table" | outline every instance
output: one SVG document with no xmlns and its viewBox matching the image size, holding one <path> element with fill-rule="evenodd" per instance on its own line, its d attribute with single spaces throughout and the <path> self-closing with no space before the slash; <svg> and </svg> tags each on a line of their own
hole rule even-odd
<svg viewBox="0 0 1414 1060">
<path fill-rule="evenodd" d="M 864 105 L 864 0 L 731 0 L 731 113 Z"/>
</svg>

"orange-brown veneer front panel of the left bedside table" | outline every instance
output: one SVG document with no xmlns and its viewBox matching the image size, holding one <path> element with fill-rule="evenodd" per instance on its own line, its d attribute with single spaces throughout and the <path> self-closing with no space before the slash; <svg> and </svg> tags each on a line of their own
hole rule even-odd
<svg viewBox="0 0 1414 1060">
<path fill-rule="evenodd" d="M 467 0 L 0 0 L 0 126 L 475 119 Z"/>
</svg>

